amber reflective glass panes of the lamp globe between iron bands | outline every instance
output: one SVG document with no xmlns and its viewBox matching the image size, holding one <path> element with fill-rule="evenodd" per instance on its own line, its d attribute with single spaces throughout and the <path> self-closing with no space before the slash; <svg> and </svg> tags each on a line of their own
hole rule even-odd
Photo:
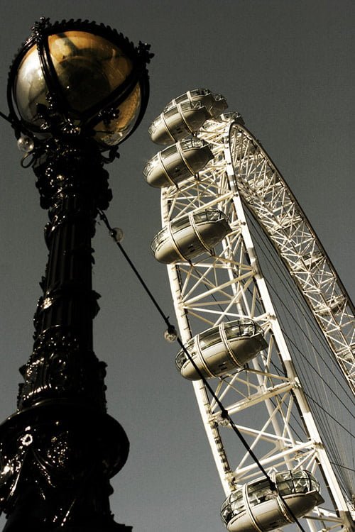
<svg viewBox="0 0 355 532">
<path fill-rule="evenodd" d="M 67 118 L 81 128 L 107 104 L 110 95 L 129 77 L 133 62 L 118 45 L 87 31 L 65 31 L 48 36 L 50 76 L 65 102 Z M 52 68 L 53 66 L 53 68 Z M 37 46 L 21 60 L 14 83 L 18 113 L 35 134 L 43 135 L 43 116 L 38 104 L 48 107 L 48 87 L 40 64 Z M 95 127 L 95 138 L 102 145 L 118 144 L 133 128 L 141 105 L 139 84 L 119 105 L 112 102 L 115 118 L 107 118 Z"/>
</svg>

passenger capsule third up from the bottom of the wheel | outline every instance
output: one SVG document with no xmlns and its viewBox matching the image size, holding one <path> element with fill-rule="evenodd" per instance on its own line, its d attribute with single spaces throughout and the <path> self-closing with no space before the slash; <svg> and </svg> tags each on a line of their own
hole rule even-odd
<svg viewBox="0 0 355 532">
<path fill-rule="evenodd" d="M 226 214 L 217 209 L 191 212 L 170 221 L 153 238 L 151 250 L 158 262 L 173 264 L 202 253 L 213 253 L 215 245 L 231 232 Z"/>
</svg>

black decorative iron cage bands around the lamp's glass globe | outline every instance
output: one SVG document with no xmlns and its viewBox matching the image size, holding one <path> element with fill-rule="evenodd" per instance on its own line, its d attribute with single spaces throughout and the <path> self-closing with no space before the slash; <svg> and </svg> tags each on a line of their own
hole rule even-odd
<svg viewBox="0 0 355 532">
<path fill-rule="evenodd" d="M 138 85 L 140 87 L 141 105 L 137 111 L 133 127 L 128 133 L 124 133 L 124 139 L 128 138 L 141 122 L 148 103 L 149 85 L 146 65 L 153 57 L 153 54 L 149 51 L 150 45 L 139 42 L 138 47 L 135 47 L 122 33 L 118 33 L 109 26 L 80 19 L 76 21 L 73 19 L 70 21 L 56 21 L 51 24 L 49 18 L 42 17 L 40 21 L 34 24 L 32 31 L 33 34 L 23 44 L 10 68 L 7 92 L 10 113 L 6 119 L 11 122 L 16 138 L 20 138 L 21 135 L 27 135 L 34 141 L 33 160 L 38 160 L 43 150 L 45 152 L 48 150 L 48 139 L 43 138 L 43 133 L 50 132 L 53 138 L 56 138 L 57 142 L 60 143 L 63 140 L 62 135 L 80 136 L 85 140 L 91 138 L 95 135 L 95 127 L 102 117 L 104 117 L 105 122 L 110 122 L 119 116 L 119 106 L 131 95 L 133 88 Z M 62 36 L 67 31 L 82 32 L 83 34 L 95 35 L 97 38 L 104 38 L 113 43 L 123 55 L 129 57 L 133 65 L 124 82 L 121 82 L 102 100 L 98 102 L 92 101 L 92 104 L 84 110 L 73 109 L 68 103 L 60 84 L 59 74 L 55 70 L 48 44 L 50 36 Z M 35 45 L 38 52 L 44 79 L 43 87 L 48 89 L 45 93 L 45 103 L 43 102 L 36 106 L 35 123 L 28 121 L 28 118 L 23 118 L 21 113 L 16 111 L 16 97 L 13 92 L 18 69 L 21 67 L 21 62 L 26 53 L 33 48 L 33 45 Z M 105 125 L 107 126 L 107 123 Z M 99 151 L 111 150 L 112 145 L 116 145 L 119 142 L 121 142 L 121 138 L 107 145 L 105 140 Z M 105 157 L 102 157 L 102 160 L 109 162 Z"/>
</svg>

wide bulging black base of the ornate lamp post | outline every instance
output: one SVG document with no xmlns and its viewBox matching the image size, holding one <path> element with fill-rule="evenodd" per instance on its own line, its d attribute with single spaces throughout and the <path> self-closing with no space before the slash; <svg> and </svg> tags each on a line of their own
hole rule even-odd
<svg viewBox="0 0 355 532">
<path fill-rule="evenodd" d="M 114 522 L 109 478 L 129 440 L 108 414 L 74 402 L 42 401 L 0 426 L 4 532 L 130 532 Z"/>
</svg>

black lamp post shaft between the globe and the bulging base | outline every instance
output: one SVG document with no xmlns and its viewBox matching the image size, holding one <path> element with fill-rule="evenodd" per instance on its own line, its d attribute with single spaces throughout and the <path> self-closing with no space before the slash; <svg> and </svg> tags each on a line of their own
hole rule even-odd
<svg viewBox="0 0 355 532">
<path fill-rule="evenodd" d="M 104 412 L 105 365 L 94 355 L 91 340 L 99 294 L 91 287 L 90 243 L 97 206 L 106 208 L 111 198 L 108 173 L 97 150 L 88 154 L 80 143 L 61 146 L 35 173 L 41 204 L 49 208 L 49 257 L 35 312 L 33 353 L 21 368 L 25 382 L 18 409 L 70 399 Z"/>
</svg>

